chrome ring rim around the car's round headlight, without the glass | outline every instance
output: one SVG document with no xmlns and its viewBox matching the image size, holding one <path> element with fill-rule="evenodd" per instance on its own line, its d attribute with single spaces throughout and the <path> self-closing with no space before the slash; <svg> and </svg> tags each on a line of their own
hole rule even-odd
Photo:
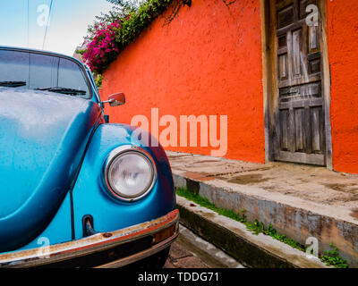
<svg viewBox="0 0 358 286">
<path fill-rule="evenodd" d="M 112 188 L 108 175 L 109 175 L 109 170 L 110 170 L 112 163 L 115 161 L 115 159 L 118 156 L 124 156 L 125 154 L 131 154 L 131 153 L 139 154 L 140 156 L 143 156 L 144 159 L 148 160 L 149 165 L 151 166 L 151 171 L 152 171 L 152 181 L 151 181 L 151 183 L 149 183 L 148 189 L 141 192 L 139 194 L 139 196 L 126 197 L 126 196 L 121 196 L 120 194 L 118 194 L 118 192 L 115 191 L 114 188 Z M 136 146 L 132 146 L 132 145 L 116 147 L 107 156 L 107 160 L 105 163 L 105 181 L 106 181 L 107 189 L 110 191 L 111 195 L 114 196 L 115 198 L 126 201 L 126 202 L 137 201 L 137 200 L 149 195 L 149 192 L 154 188 L 154 185 L 157 182 L 157 167 L 156 167 L 156 164 L 154 163 L 153 157 L 150 156 L 150 154 L 141 147 L 136 147 Z"/>
</svg>

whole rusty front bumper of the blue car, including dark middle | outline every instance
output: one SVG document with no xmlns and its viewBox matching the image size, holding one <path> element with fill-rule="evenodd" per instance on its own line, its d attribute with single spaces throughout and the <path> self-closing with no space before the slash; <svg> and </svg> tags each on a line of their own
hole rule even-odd
<svg viewBox="0 0 358 286">
<path fill-rule="evenodd" d="M 81 240 L 7 252 L 2 267 L 121 267 L 167 248 L 178 235 L 179 211 L 131 227 L 100 232 Z"/>
</svg>

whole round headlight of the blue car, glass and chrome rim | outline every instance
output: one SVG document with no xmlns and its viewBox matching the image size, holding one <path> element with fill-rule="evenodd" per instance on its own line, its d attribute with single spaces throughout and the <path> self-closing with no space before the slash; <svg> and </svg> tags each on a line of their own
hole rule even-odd
<svg viewBox="0 0 358 286">
<path fill-rule="evenodd" d="M 147 195 L 156 180 L 154 163 L 144 150 L 115 150 L 106 167 L 108 189 L 117 198 L 136 200 Z M 112 153 L 113 154 L 113 153 Z"/>
</svg>

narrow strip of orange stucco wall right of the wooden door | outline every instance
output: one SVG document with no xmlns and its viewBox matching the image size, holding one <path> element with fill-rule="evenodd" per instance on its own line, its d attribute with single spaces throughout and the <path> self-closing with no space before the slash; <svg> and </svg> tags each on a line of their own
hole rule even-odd
<svg viewBox="0 0 358 286">
<path fill-rule="evenodd" d="M 358 1 L 328 0 L 333 167 L 358 173 Z"/>
</svg>

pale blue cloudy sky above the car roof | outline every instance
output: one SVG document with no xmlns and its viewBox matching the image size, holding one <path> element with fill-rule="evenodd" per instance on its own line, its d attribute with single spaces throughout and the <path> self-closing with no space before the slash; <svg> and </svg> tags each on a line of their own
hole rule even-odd
<svg viewBox="0 0 358 286">
<path fill-rule="evenodd" d="M 112 6 L 106 0 L 52 0 L 50 9 L 51 0 L 0 0 L 0 46 L 73 55 L 95 16 Z"/>
</svg>

